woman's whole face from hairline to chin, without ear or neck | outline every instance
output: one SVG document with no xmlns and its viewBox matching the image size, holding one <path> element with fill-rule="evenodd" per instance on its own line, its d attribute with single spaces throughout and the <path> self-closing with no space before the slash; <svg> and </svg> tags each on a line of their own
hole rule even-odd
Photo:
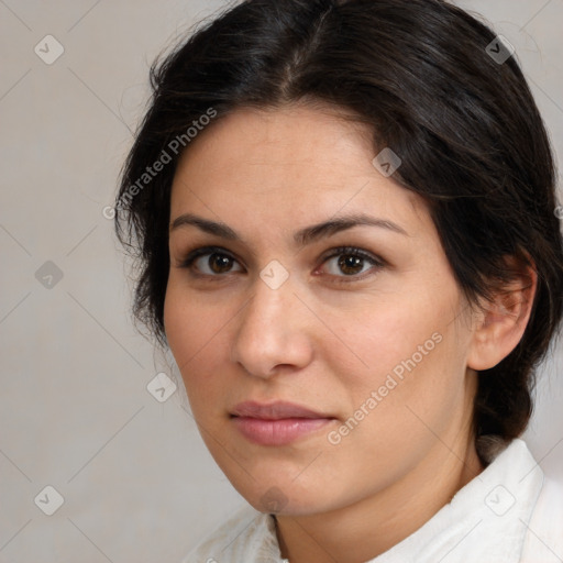
<svg viewBox="0 0 563 563">
<path fill-rule="evenodd" d="M 177 168 L 166 334 L 207 446 L 262 511 L 416 493 L 471 442 L 467 303 L 375 156 L 364 125 L 291 106 L 217 121 Z"/>
</svg>

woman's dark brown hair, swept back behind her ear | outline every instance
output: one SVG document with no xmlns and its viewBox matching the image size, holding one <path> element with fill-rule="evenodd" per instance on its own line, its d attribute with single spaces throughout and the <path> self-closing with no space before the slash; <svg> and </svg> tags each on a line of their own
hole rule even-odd
<svg viewBox="0 0 563 563">
<path fill-rule="evenodd" d="M 250 0 L 157 60 L 115 203 L 118 238 L 140 267 L 135 318 L 166 345 L 177 140 L 189 151 L 188 128 L 210 110 L 219 120 L 242 107 L 328 102 L 372 126 L 374 156 L 383 147 L 399 155 L 394 179 L 428 202 L 472 303 L 510 280 L 507 256 L 534 267 L 526 332 L 479 373 L 474 411 L 477 438 L 520 435 L 532 411 L 534 367 L 562 314 L 563 251 L 550 142 L 515 56 L 501 62 L 487 49 L 495 35 L 442 0 Z M 170 162 L 143 176 L 165 153 Z"/>
</svg>

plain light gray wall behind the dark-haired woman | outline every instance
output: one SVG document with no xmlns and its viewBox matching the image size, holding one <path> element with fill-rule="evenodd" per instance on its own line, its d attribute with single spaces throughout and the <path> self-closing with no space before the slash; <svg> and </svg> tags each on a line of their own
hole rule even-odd
<svg viewBox="0 0 563 563">
<path fill-rule="evenodd" d="M 563 0 L 459 3 L 515 45 L 561 159 Z M 178 374 L 132 324 L 132 284 L 102 214 L 143 114 L 148 65 L 224 5 L 0 0 L 1 562 L 177 562 L 244 504 L 181 386 L 165 402 L 146 389 L 156 373 Z M 51 65 L 34 52 L 56 54 L 46 35 L 65 49 Z M 561 351 L 541 369 L 525 437 L 559 478 Z M 48 485 L 64 498 L 53 516 L 40 509 L 54 506 Z"/>
</svg>

